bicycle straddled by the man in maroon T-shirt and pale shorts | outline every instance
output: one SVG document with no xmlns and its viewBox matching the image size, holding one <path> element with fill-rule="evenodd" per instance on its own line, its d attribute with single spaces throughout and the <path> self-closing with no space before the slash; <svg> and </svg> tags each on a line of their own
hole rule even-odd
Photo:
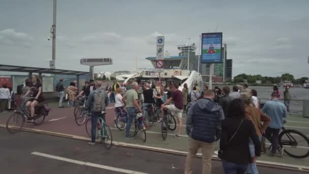
<svg viewBox="0 0 309 174">
<path fill-rule="evenodd" d="M 174 131 L 177 127 L 177 123 L 174 118 L 174 115 L 168 109 L 165 108 L 163 110 L 164 110 L 164 116 L 161 122 L 161 132 L 163 140 L 166 140 L 167 131 L 168 130 Z M 172 125 L 174 125 L 174 127 L 171 127 Z"/>
</svg>

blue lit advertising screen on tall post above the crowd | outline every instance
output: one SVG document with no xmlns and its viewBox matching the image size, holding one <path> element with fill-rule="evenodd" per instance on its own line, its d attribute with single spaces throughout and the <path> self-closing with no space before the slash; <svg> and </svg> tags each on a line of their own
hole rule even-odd
<svg viewBox="0 0 309 174">
<path fill-rule="evenodd" d="M 222 63 L 222 33 L 202 33 L 202 64 Z"/>
</svg>

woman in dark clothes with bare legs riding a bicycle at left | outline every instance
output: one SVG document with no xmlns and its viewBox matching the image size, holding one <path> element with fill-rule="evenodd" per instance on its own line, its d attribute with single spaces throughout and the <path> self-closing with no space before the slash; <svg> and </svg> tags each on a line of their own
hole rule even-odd
<svg viewBox="0 0 309 174">
<path fill-rule="evenodd" d="M 32 76 L 32 83 L 24 96 L 27 96 L 30 93 L 32 93 L 33 98 L 29 99 L 26 103 L 26 107 L 30 112 L 30 117 L 27 119 L 27 122 L 34 122 L 33 118 L 35 115 L 35 106 L 44 101 L 42 96 L 42 83 L 38 75 Z"/>
</svg>

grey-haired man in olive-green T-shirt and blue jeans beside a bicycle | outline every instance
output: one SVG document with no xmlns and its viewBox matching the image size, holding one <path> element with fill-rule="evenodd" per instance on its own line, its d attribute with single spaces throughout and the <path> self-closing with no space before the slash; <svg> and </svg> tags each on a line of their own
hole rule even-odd
<svg viewBox="0 0 309 174">
<path fill-rule="evenodd" d="M 138 83 L 133 82 L 132 89 L 128 90 L 126 94 L 122 97 L 122 102 L 126 104 L 127 111 L 129 114 L 129 119 L 128 119 L 127 127 L 126 127 L 126 139 L 134 139 L 134 137 L 130 135 L 130 128 L 131 128 L 131 123 L 134 123 L 136 109 L 139 110 L 141 113 L 143 112 L 137 102 L 138 97 L 137 97 L 136 91 L 138 89 L 139 89 Z"/>
</svg>

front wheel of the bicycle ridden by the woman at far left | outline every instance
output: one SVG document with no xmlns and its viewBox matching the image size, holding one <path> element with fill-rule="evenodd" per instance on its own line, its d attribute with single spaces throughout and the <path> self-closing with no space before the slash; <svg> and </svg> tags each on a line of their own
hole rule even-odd
<svg viewBox="0 0 309 174">
<path fill-rule="evenodd" d="M 7 130 L 10 133 L 17 133 L 21 130 L 24 122 L 25 118 L 23 117 L 23 114 L 15 112 L 9 117 L 7 121 Z"/>
</svg>

